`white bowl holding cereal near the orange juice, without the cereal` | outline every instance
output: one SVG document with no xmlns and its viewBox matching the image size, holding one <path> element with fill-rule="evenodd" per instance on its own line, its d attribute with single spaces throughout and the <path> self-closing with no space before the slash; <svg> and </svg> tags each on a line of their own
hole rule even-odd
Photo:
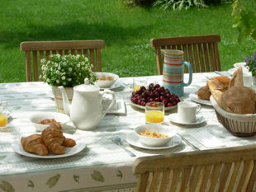
<svg viewBox="0 0 256 192">
<path fill-rule="evenodd" d="M 140 135 L 144 130 L 154 131 L 161 134 L 165 134 L 168 138 L 149 138 Z M 139 138 L 140 143 L 143 143 L 150 147 L 162 147 L 166 145 L 176 134 L 169 126 L 162 124 L 145 124 L 135 128 L 135 134 Z"/>
</svg>

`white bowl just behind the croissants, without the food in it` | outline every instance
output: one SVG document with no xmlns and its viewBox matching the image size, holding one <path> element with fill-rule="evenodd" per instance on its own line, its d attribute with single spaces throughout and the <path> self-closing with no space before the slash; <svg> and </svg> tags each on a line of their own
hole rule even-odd
<svg viewBox="0 0 256 192">
<path fill-rule="evenodd" d="M 37 124 L 37 122 L 43 119 L 55 119 L 57 122 L 60 122 L 60 125 L 66 124 L 70 120 L 68 115 L 57 112 L 37 112 L 29 118 L 31 124 L 36 128 L 36 131 L 43 131 L 49 127 L 49 124 Z"/>
</svg>

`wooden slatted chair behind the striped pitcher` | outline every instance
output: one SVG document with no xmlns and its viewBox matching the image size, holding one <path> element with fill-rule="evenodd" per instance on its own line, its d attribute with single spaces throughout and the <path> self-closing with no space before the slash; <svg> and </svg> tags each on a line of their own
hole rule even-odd
<svg viewBox="0 0 256 192">
<path fill-rule="evenodd" d="M 151 40 L 155 48 L 159 75 L 163 74 L 164 57 L 161 49 L 179 49 L 184 51 L 184 60 L 192 65 L 194 73 L 221 71 L 218 51 L 220 35 L 198 35 Z M 187 68 L 185 68 L 187 73 Z"/>
</svg>

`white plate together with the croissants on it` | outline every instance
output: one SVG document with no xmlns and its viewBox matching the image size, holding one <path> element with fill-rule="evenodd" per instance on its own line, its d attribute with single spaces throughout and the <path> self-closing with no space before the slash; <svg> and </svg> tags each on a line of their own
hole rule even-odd
<svg viewBox="0 0 256 192">
<path fill-rule="evenodd" d="M 59 158 L 69 157 L 86 147 L 82 138 L 62 133 L 58 124 L 51 124 L 41 133 L 32 133 L 18 138 L 12 149 L 26 157 Z"/>
</svg>

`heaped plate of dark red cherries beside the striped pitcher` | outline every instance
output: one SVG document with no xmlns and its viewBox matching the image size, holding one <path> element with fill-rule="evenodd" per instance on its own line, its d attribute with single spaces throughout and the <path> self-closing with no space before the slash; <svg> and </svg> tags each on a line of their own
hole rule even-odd
<svg viewBox="0 0 256 192">
<path fill-rule="evenodd" d="M 130 96 L 131 105 L 140 109 L 145 109 L 147 102 L 158 101 L 164 103 L 165 110 L 172 110 L 177 107 L 179 97 L 171 93 L 167 88 L 159 84 L 150 83 L 148 87 L 140 87 L 139 90 L 132 92 Z"/>
</svg>

